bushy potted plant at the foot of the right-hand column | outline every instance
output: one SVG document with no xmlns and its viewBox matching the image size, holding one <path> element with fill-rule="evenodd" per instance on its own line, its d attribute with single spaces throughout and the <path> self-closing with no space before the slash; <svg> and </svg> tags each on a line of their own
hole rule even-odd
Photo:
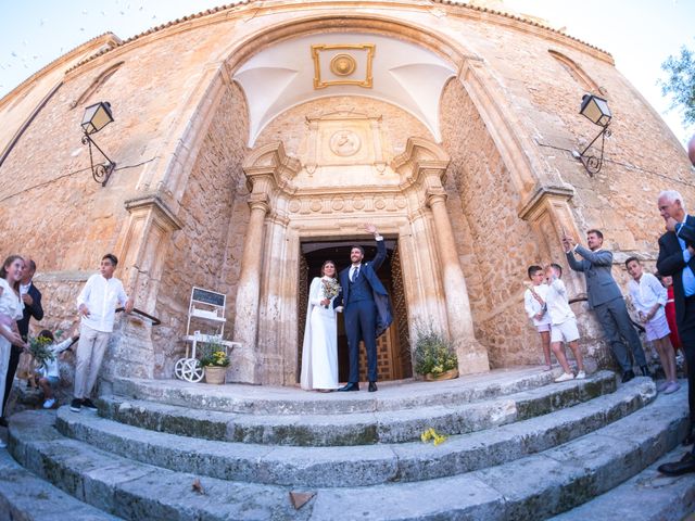
<svg viewBox="0 0 695 521">
<path fill-rule="evenodd" d="M 431 326 L 417 327 L 415 372 L 427 381 L 458 378 L 458 359 L 451 343 Z"/>
</svg>

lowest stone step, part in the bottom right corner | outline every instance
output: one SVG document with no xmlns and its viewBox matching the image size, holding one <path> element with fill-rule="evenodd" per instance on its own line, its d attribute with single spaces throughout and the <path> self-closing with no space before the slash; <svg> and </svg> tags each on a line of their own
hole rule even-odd
<svg viewBox="0 0 695 521">
<path fill-rule="evenodd" d="M 623 484 L 554 516 L 552 521 L 685 521 L 695 512 L 695 473 L 670 478 L 656 469 L 678 461 L 690 450 L 678 446 Z"/>
</svg>

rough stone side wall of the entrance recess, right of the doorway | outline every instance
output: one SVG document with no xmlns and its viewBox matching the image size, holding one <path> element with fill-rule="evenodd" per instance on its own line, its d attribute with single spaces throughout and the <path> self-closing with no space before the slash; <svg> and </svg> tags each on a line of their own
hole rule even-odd
<svg viewBox="0 0 695 521">
<path fill-rule="evenodd" d="M 447 207 L 466 276 L 477 339 L 493 367 L 542 360 L 538 333 L 527 325 L 526 267 L 545 260 L 495 143 L 460 82 L 442 97 L 443 147 L 451 154 Z"/>
</svg>

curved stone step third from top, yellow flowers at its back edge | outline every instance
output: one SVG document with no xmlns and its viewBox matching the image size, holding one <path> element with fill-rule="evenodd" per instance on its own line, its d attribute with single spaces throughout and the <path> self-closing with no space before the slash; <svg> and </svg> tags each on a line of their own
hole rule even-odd
<svg viewBox="0 0 695 521">
<path fill-rule="evenodd" d="M 313 448 L 193 440 L 124 425 L 93 412 L 75 414 L 67 407 L 58 411 L 56 428 L 103 450 L 175 471 L 278 485 L 366 486 L 443 478 L 513 461 L 618 421 L 655 396 L 654 382 L 635 379 L 591 402 L 452 436 L 437 447 L 421 441 Z"/>
</svg>

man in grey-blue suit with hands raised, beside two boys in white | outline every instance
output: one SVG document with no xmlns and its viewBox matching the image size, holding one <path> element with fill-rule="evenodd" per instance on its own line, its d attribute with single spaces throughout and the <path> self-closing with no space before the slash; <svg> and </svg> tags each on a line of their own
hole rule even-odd
<svg viewBox="0 0 695 521">
<path fill-rule="evenodd" d="M 589 307 L 596 313 L 596 318 L 604 329 L 606 339 L 610 343 L 612 354 L 622 369 L 622 381 L 628 382 L 634 378 L 632 361 L 628 354 L 624 341 L 630 345 L 634 361 L 640 366 L 642 374 L 649 374 L 644 350 L 640 336 L 632 326 L 626 301 L 620 288 L 616 283 L 610 268 L 612 266 L 612 253 L 603 250 L 604 236 L 599 230 L 586 232 L 589 249 L 577 244 L 571 238 L 565 237 L 563 245 L 567 255 L 567 262 L 574 271 L 582 271 L 586 279 L 586 294 Z M 576 255 L 582 257 L 577 259 Z"/>
</svg>

